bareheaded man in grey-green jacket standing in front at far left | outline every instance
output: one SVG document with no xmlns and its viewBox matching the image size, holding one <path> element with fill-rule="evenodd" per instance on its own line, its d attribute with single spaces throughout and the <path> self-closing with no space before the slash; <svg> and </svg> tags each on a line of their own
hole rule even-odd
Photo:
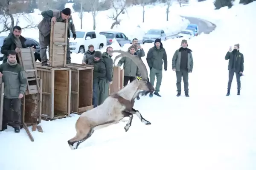
<svg viewBox="0 0 256 170">
<path fill-rule="evenodd" d="M 7 62 L 0 65 L 0 77 L 4 82 L 2 130 L 6 130 L 7 123 L 9 123 L 14 128 L 15 133 L 19 133 L 21 98 L 26 91 L 27 78 L 23 67 L 17 63 L 15 50 L 10 50 Z"/>
</svg>

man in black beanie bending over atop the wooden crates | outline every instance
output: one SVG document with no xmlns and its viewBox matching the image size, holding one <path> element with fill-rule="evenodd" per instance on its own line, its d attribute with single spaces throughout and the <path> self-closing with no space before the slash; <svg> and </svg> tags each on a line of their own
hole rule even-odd
<svg viewBox="0 0 256 170">
<path fill-rule="evenodd" d="M 48 66 L 46 50 L 47 50 L 47 46 L 50 45 L 51 21 L 53 21 L 53 23 L 55 22 L 65 23 L 66 20 L 68 20 L 67 64 L 70 64 L 71 62 L 70 46 L 69 46 L 70 31 L 73 34 L 73 38 L 76 39 L 76 29 L 71 16 L 71 9 L 64 8 L 63 10 L 47 10 L 47 11 L 43 11 L 41 15 L 43 16 L 43 20 L 38 24 L 41 65 Z"/>
</svg>

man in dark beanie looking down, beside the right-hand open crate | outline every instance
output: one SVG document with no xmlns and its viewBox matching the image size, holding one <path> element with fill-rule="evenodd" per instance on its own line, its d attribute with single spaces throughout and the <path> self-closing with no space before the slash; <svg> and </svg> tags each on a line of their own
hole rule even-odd
<svg viewBox="0 0 256 170">
<path fill-rule="evenodd" d="M 102 59 L 102 53 L 96 51 L 94 55 L 85 59 L 85 63 L 93 65 L 93 107 L 100 105 L 101 95 L 105 91 L 105 86 L 102 84 L 100 79 L 106 77 L 106 67 Z"/>
</svg>

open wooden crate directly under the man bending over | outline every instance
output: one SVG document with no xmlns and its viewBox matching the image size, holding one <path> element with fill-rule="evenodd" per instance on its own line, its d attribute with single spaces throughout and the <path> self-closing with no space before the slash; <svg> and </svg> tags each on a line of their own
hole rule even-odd
<svg viewBox="0 0 256 170">
<path fill-rule="evenodd" d="M 70 115 L 71 70 L 37 64 L 38 75 L 43 79 L 42 117 L 59 119 Z"/>
</svg>

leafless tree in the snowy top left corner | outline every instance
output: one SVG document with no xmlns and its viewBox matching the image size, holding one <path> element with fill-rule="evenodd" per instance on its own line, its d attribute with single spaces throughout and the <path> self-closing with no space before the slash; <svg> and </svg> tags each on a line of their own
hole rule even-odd
<svg viewBox="0 0 256 170">
<path fill-rule="evenodd" d="M 12 32 L 12 28 L 19 24 L 20 17 L 23 17 L 23 19 L 30 23 L 27 26 L 23 27 L 22 29 L 35 28 L 37 26 L 31 20 L 29 20 L 27 14 L 17 14 L 17 11 L 21 11 L 22 9 L 27 8 L 27 5 L 28 4 L 26 3 L 18 3 L 16 0 L 0 1 L 0 10 L 3 11 L 3 15 L 0 18 L 0 23 L 3 25 L 3 28 L 0 30 L 0 33 L 6 31 Z"/>
</svg>

